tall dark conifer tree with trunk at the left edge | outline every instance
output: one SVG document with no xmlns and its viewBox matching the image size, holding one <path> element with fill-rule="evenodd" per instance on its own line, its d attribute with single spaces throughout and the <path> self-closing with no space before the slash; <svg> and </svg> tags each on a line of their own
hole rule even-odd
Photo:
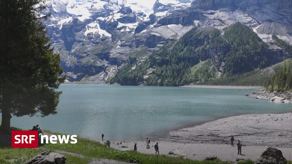
<svg viewBox="0 0 292 164">
<path fill-rule="evenodd" d="M 1 130 L 9 132 L 11 115 L 56 114 L 64 82 L 60 55 L 53 52 L 40 16 L 43 0 L 0 0 Z"/>
</svg>

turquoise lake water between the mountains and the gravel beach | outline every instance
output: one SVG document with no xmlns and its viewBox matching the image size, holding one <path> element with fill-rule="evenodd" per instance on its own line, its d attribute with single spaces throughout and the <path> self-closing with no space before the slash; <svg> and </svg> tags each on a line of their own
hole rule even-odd
<svg viewBox="0 0 292 164">
<path fill-rule="evenodd" d="M 109 85 L 61 85 L 56 115 L 23 116 L 11 125 L 91 139 L 139 141 L 232 115 L 289 112 L 291 104 L 245 96 L 256 90 Z M 258 90 L 257 90 L 258 91 Z"/>
</svg>

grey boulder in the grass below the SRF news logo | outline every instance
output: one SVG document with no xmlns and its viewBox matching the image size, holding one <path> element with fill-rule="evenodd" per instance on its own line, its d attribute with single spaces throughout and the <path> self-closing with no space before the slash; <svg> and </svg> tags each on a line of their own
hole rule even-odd
<svg viewBox="0 0 292 164">
<path fill-rule="evenodd" d="M 48 153 L 48 152 L 42 152 L 33 158 L 27 160 L 25 163 L 28 164 L 62 164 L 66 163 L 66 157 L 59 153 Z"/>
</svg>

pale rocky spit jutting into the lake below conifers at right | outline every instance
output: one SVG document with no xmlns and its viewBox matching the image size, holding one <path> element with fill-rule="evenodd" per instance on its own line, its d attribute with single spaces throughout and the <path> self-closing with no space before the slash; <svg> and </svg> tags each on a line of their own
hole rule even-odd
<svg viewBox="0 0 292 164">
<path fill-rule="evenodd" d="M 260 91 L 254 92 L 252 94 L 247 94 L 248 97 L 265 99 L 271 102 L 283 102 L 283 103 L 291 103 L 292 102 L 292 93 L 290 91 L 286 92 L 278 92 L 278 91 Z"/>
</svg>

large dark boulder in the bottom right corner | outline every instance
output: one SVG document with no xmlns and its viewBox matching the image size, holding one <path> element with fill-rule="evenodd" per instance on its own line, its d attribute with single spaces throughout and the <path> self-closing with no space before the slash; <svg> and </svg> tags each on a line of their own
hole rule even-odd
<svg viewBox="0 0 292 164">
<path fill-rule="evenodd" d="M 287 160 L 283 157 L 281 150 L 269 147 L 255 161 L 256 164 L 286 164 Z"/>
</svg>

